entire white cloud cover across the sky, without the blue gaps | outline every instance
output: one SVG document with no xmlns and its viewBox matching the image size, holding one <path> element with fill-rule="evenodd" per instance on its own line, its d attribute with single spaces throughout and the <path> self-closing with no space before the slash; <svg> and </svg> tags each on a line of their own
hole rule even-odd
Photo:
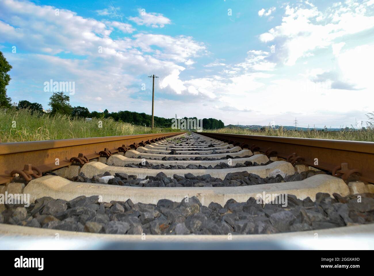
<svg viewBox="0 0 374 276">
<path fill-rule="evenodd" d="M 151 80 L 144 75 L 157 73 L 157 116 L 174 117 L 178 113 L 181 117 L 207 117 L 209 112 L 209 116 L 223 119 L 226 124 L 239 120 L 243 124 L 263 125 L 273 119 L 277 123 L 287 122 L 287 118 L 294 120 L 295 116 L 300 122 L 303 121 L 299 116 L 312 118 L 311 123 L 347 121 L 371 109 L 367 99 L 373 97 L 373 42 L 365 36 L 366 45 L 359 45 L 363 44 L 361 40 L 350 37 L 372 28 L 369 9 L 373 5 L 368 2 L 358 6 L 337 4 L 324 13 L 304 2 L 308 9 L 288 6 L 282 24 L 260 36 L 263 42 L 271 43 L 259 50 L 249 50 L 241 62 L 216 59 L 191 73 L 190 65 L 197 63 L 198 67 L 198 58 L 209 54 L 206 45 L 193 37 L 136 33 L 131 24 L 126 24 L 135 33 L 134 39 L 153 68 L 151 72 L 127 36 L 126 28 L 114 19 L 98 21 L 63 9 L 58 17 L 52 6 L 3 0 L 0 43 L 17 45 L 27 52 L 12 54 L 9 47 L 0 45 L 13 65 L 8 93 L 14 100 L 30 95 L 34 101 L 47 101 L 49 95 L 43 92 L 43 82 L 50 78 L 75 81 L 73 105 L 99 110 L 107 108 L 105 102 L 110 102 L 113 111 L 128 109 L 149 114 Z M 262 16 L 266 13 L 269 9 L 264 9 Z M 268 19 L 272 15 L 273 10 Z M 141 19 L 141 15 L 137 18 Z M 138 19 L 135 20 L 140 24 L 151 27 L 165 25 L 161 21 Z M 122 31 L 124 36 L 113 38 L 114 31 Z M 102 53 L 98 52 L 99 46 Z M 315 52 L 316 49 L 321 52 Z M 307 67 L 302 64 L 307 62 L 306 56 Z M 297 64 L 299 58 L 303 60 Z M 294 65 L 285 67 L 282 63 Z M 331 88 L 324 84 L 328 82 Z M 25 89 L 25 83 L 32 85 Z M 142 83 L 146 83 L 146 91 L 141 91 Z M 168 99 L 169 94 L 174 94 L 172 99 Z M 134 95 L 136 99 L 132 98 Z M 124 98 L 126 101 L 120 101 Z M 259 98 L 261 101 L 254 104 L 254 99 Z M 290 109 L 275 110 L 272 103 Z"/>
</svg>

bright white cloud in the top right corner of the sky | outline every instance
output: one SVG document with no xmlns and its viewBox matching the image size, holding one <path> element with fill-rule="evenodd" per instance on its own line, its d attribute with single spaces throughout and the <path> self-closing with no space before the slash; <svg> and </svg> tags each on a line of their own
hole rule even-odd
<svg viewBox="0 0 374 276">
<path fill-rule="evenodd" d="M 310 54 L 318 48 L 325 48 L 334 40 L 374 27 L 374 16 L 367 14 L 364 4 L 337 6 L 323 14 L 317 7 L 286 6 L 282 24 L 260 35 L 262 42 L 275 41 L 278 44 L 278 58 L 287 65 Z M 326 18 L 327 24 L 318 23 Z"/>
</svg>

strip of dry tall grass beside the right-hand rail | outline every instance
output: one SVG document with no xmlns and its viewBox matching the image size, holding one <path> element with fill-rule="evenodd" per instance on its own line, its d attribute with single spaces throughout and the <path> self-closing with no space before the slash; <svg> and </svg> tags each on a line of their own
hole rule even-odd
<svg viewBox="0 0 374 276">
<path fill-rule="evenodd" d="M 203 132 L 215 133 L 232 133 L 232 134 L 248 134 L 248 135 L 265 135 L 278 137 L 297 137 L 297 138 L 314 138 L 314 139 L 335 139 L 348 141 L 367 141 L 374 142 L 374 113 L 367 114 L 368 122 L 366 129 L 353 129 L 350 131 L 294 131 L 266 127 L 264 130 L 252 130 L 244 128 L 221 128 L 204 130 Z M 353 127 L 352 127 L 353 128 Z"/>
</svg>

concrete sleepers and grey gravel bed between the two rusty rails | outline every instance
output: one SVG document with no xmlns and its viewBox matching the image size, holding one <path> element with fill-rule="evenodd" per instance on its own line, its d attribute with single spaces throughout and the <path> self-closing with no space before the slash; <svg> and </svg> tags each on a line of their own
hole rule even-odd
<svg viewBox="0 0 374 276">
<path fill-rule="evenodd" d="M 374 185 L 230 142 L 179 135 L 26 186 L 1 185 L 0 196 L 29 195 L 30 205 L 0 204 L 0 233 L 23 226 L 128 235 L 312 233 L 374 221 Z"/>
</svg>

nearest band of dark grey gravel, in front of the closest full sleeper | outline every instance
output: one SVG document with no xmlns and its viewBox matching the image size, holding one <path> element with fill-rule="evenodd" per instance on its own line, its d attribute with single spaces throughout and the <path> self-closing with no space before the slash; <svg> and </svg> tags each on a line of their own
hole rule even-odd
<svg viewBox="0 0 374 276">
<path fill-rule="evenodd" d="M 202 206 L 197 197 L 182 202 L 159 200 L 157 205 L 99 202 L 99 196 L 66 201 L 42 197 L 27 208 L 6 205 L 0 223 L 45 229 L 107 234 L 272 234 L 368 224 L 374 221 L 374 194 L 341 197 L 316 194 L 316 201 L 281 195 L 286 205 L 264 204 L 251 197 L 224 206 Z M 279 200 L 280 202 L 281 200 Z M 284 201 L 283 201 L 284 202 Z"/>
</svg>

